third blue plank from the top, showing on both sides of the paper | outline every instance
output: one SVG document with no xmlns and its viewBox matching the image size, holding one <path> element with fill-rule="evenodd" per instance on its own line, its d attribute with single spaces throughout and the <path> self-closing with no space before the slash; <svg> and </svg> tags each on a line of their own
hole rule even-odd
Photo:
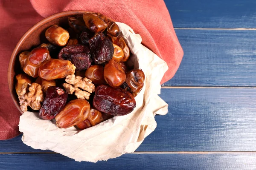
<svg viewBox="0 0 256 170">
<path fill-rule="evenodd" d="M 169 113 L 137 151 L 256 151 L 255 88 L 163 88 Z M 15 139 L 0 152 L 39 152 Z M 43 151 L 45 152 L 45 151 Z"/>
</svg>

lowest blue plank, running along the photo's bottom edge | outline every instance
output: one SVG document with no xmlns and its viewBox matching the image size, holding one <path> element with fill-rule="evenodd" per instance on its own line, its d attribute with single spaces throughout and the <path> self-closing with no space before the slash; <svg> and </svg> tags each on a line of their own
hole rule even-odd
<svg viewBox="0 0 256 170">
<path fill-rule="evenodd" d="M 2 154 L 1 170 L 170 170 L 256 169 L 256 154 L 125 154 L 97 163 L 76 162 L 60 154 Z"/>
</svg>

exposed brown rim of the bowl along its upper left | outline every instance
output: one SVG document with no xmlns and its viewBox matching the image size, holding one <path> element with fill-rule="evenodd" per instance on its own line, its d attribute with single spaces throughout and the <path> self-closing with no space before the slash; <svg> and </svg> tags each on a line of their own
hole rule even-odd
<svg viewBox="0 0 256 170">
<path fill-rule="evenodd" d="M 63 11 L 63 12 L 59 12 L 57 14 L 53 14 L 53 15 L 51 15 L 49 17 L 46 17 L 43 20 L 41 20 L 38 23 L 36 23 L 31 28 L 29 28 L 29 30 L 26 31 L 25 34 L 23 34 L 23 36 L 20 38 L 20 40 L 15 45 L 15 48 L 12 51 L 12 55 L 11 55 L 11 58 L 9 60 L 8 71 L 7 71 L 7 82 L 8 82 L 9 92 L 10 92 L 11 97 L 12 97 L 12 101 L 14 102 L 16 108 L 20 111 L 20 113 L 23 113 L 23 111 L 21 111 L 20 105 L 18 105 L 17 102 L 16 102 L 16 99 L 15 99 L 15 96 L 14 96 L 15 94 L 13 94 L 12 90 L 11 90 L 12 86 L 14 85 L 14 84 L 12 84 L 12 67 L 15 64 L 13 61 L 15 60 L 15 57 L 17 56 L 18 48 L 20 47 L 22 42 L 26 39 L 26 37 L 29 36 L 29 34 L 31 34 L 32 31 L 35 30 L 35 28 L 37 28 L 37 27 L 39 27 L 41 25 L 44 25 L 44 23 L 49 22 L 49 20 L 53 20 L 53 19 L 56 19 L 58 17 L 66 17 L 68 15 L 83 14 L 85 12 L 91 12 L 91 11 L 83 11 L 83 10 Z"/>
</svg>

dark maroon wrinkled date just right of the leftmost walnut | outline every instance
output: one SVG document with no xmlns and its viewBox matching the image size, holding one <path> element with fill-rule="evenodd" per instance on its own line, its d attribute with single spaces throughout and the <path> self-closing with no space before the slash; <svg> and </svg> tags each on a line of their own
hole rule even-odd
<svg viewBox="0 0 256 170">
<path fill-rule="evenodd" d="M 39 116 L 45 120 L 52 120 L 67 102 L 67 92 L 62 88 L 51 86 L 47 89 Z"/>
</svg>

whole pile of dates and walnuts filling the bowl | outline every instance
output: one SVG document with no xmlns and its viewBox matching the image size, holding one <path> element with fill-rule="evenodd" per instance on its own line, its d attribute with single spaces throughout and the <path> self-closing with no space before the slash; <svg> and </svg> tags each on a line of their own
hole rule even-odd
<svg viewBox="0 0 256 170">
<path fill-rule="evenodd" d="M 30 107 L 58 127 L 81 130 L 131 113 L 145 75 L 128 66 L 130 49 L 118 25 L 90 12 L 68 23 L 49 27 L 49 42 L 20 53 L 24 73 L 16 75 L 15 88 L 21 110 Z"/>
</svg>

